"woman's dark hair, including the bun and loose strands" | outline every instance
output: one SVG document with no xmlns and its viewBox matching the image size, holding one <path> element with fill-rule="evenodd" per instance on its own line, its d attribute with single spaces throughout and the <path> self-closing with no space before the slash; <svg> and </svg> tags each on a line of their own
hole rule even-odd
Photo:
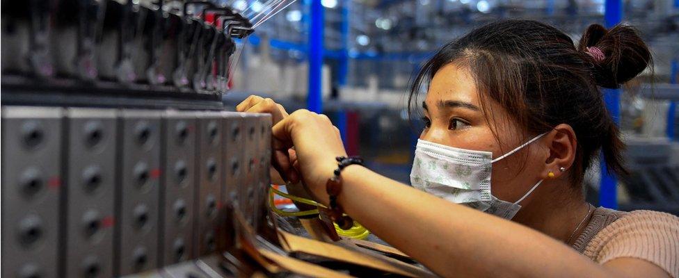
<svg viewBox="0 0 679 278">
<path fill-rule="evenodd" d="M 587 47 L 597 47 L 603 60 Z M 455 63 L 469 70 L 490 124 L 490 97 L 525 133 L 537 135 L 557 124 L 575 131 L 577 149 L 572 182 L 579 184 L 601 150 L 607 170 L 626 174 L 621 152 L 625 145 L 609 115 L 599 86 L 618 88 L 652 63 L 648 47 L 631 26 L 607 30 L 599 24 L 586 29 L 576 48 L 557 28 L 532 20 L 506 20 L 474 29 L 445 44 L 426 61 L 414 79 L 408 111 L 418 109 L 417 95 L 428 88 L 441 67 Z M 493 130 L 497 140 L 498 136 Z"/>
</svg>

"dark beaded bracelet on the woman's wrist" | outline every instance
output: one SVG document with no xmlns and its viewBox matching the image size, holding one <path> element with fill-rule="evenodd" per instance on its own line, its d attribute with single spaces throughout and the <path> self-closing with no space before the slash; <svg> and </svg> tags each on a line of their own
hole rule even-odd
<svg viewBox="0 0 679 278">
<path fill-rule="evenodd" d="M 337 160 L 337 169 L 333 172 L 333 177 L 328 179 L 328 182 L 326 183 L 326 193 L 330 196 L 329 216 L 330 220 L 337 223 L 337 226 L 346 230 L 351 229 L 353 226 L 353 219 L 351 219 L 349 215 L 343 215 L 344 210 L 342 210 L 342 206 L 337 204 L 337 196 L 342 192 L 342 178 L 340 177 L 340 173 L 346 166 L 353 164 L 363 165 L 363 159 L 358 156 L 337 156 L 335 160 Z"/>
</svg>

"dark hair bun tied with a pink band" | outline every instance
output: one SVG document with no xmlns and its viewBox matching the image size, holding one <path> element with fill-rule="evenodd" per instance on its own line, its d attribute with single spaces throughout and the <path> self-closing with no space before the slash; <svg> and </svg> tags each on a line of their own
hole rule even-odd
<svg viewBox="0 0 679 278">
<path fill-rule="evenodd" d="M 588 47 L 599 49 L 603 59 L 592 55 Z M 591 24 L 584 31 L 577 49 L 587 54 L 587 59 L 594 65 L 594 79 L 604 88 L 619 88 L 652 63 L 650 51 L 637 29 L 622 24 L 610 30 L 601 24 Z"/>
</svg>

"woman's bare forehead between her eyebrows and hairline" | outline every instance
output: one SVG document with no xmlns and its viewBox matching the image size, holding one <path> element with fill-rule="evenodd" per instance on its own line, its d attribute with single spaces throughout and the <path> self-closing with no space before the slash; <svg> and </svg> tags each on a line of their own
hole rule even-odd
<svg viewBox="0 0 679 278">
<path fill-rule="evenodd" d="M 471 74 L 465 67 L 454 63 L 445 65 L 434 74 L 429 91 L 426 94 L 428 106 L 435 106 L 439 101 L 464 101 L 480 106 L 479 92 Z"/>
</svg>

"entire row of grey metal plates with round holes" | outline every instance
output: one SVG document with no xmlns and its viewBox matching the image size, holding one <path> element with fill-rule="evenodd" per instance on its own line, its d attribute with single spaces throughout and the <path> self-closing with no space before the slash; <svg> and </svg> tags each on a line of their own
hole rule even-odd
<svg viewBox="0 0 679 278">
<path fill-rule="evenodd" d="M 2 277 L 111 277 L 230 245 L 269 186 L 271 116 L 2 107 Z"/>
</svg>

